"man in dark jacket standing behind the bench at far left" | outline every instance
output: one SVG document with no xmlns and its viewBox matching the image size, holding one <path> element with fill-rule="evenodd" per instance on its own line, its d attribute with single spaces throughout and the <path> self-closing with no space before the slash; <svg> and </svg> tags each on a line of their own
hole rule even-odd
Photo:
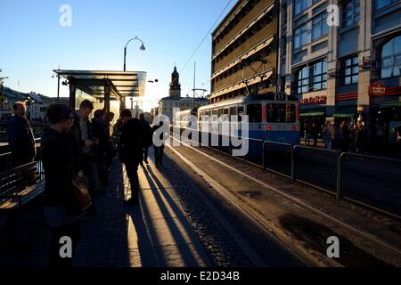
<svg viewBox="0 0 401 285">
<path fill-rule="evenodd" d="M 7 141 L 12 152 L 12 166 L 20 167 L 33 162 L 37 154 L 32 127 L 25 118 L 25 102 L 15 102 L 14 116 L 7 124 Z"/>
</svg>

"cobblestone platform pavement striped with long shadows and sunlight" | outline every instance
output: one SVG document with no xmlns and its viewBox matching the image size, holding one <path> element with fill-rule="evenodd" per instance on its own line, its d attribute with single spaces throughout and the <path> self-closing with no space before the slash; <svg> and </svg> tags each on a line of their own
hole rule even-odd
<svg viewBox="0 0 401 285">
<path fill-rule="evenodd" d="M 151 153 L 150 150 L 150 156 Z M 164 165 L 159 169 L 151 163 L 144 169 L 140 167 L 139 174 L 142 184 L 149 185 L 151 181 L 160 183 L 151 187 L 154 189 L 156 186 L 159 194 L 153 190 L 153 193 L 150 193 L 150 188 L 143 189 L 141 208 L 125 207 L 123 200 L 129 196 L 129 189 L 124 186 L 128 184 L 127 177 L 124 175 L 123 167 L 116 160 L 110 171 L 110 187 L 103 188 L 102 193 L 94 195 L 94 207 L 97 213 L 87 214 L 82 220 L 81 240 L 78 243 L 75 266 L 252 266 L 250 259 L 200 199 L 198 186 L 182 174 L 176 163 L 166 157 Z M 155 179 L 156 176 L 158 179 Z M 169 186 L 163 187 L 166 185 Z M 161 235 L 160 239 L 176 239 L 176 245 L 163 245 L 163 242 L 160 242 L 161 245 L 153 246 L 152 256 L 147 254 L 151 252 L 149 247 L 132 246 L 133 239 L 137 242 L 142 238 L 143 241 L 144 237 L 148 239 L 148 243 L 153 244 L 154 238 L 149 238 L 152 237 L 152 231 L 166 232 L 163 226 L 155 230 L 147 225 L 154 223 L 158 218 L 167 219 L 165 216 L 158 216 L 159 212 L 155 212 L 155 208 L 158 207 L 154 205 L 148 209 L 144 207 L 151 194 L 156 197 L 151 203 L 157 202 L 161 212 L 167 213 L 173 209 L 176 213 L 168 217 L 170 220 L 166 222 L 165 227 L 175 232 L 180 232 L 184 228 L 189 232 L 183 236 L 176 233 L 169 237 Z M 167 206 L 163 206 L 161 202 L 166 200 Z M 142 218 L 139 218 L 141 216 Z M 28 208 L 24 208 L 19 221 L 20 244 L 16 247 L 5 244 L 5 226 L 0 225 L 3 237 L 0 239 L 0 266 L 47 266 L 50 232 L 45 224 L 42 200 L 38 199 Z M 177 226 L 177 222 L 182 225 Z M 165 240 L 164 243 L 166 242 Z M 184 250 L 190 250 L 185 247 L 192 250 L 192 256 L 188 257 L 188 254 L 183 253 Z M 161 252 L 161 249 L 164 251 Z M 183 260 L 177 257 L 176 252 L 184 256 L 181 257 Z M 142 263 L 137 261 L 138 256 L 142 258 Z"/>
</svg>

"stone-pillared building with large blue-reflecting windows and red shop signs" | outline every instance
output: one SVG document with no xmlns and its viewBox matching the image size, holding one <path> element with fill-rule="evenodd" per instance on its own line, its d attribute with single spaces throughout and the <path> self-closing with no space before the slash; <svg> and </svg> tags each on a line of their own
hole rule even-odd
<svg viewBox="0 0 401 285">
<path fill-rule="evenodd" d="M 401 125 L 401 2 L 281 0 L 280 11 L 278 72 L 301 126 L 361 121 L 387 148 Z"/>
</svg>

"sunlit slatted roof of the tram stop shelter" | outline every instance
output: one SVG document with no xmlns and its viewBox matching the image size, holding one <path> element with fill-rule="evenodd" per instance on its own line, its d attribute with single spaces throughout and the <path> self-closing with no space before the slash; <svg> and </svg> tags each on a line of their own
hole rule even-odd
<svg viewBox="0 0 401 285">
<path fill-rule="evenodd" d="M 143 96 L 146 85 L 144 71 L 100 70 L 53 70 L 65 78 L 63 85 L 70 86 L 70 108 L 76 108 L 77 89 L 104 102 L 104 110 L 110 112 L 110 101 L 119 101 L 120 110 L 125 108 L 126 97 Z"/>
</svg>

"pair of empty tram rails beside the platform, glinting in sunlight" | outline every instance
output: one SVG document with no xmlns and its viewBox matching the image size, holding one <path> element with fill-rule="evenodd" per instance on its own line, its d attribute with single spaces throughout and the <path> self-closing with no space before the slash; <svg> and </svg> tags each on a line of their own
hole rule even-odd
<svg viewBox="0 0 401 285">
<path fill-rule="evenodd" d="M 174 138 L 176 140 L 176 138 Z M 386 242 L 385 240 L 381 240 L 369 232 L 364 232 L 363 230 L 360 230 L 356 228 L 353 225 L 344 223 L 340 221 L 338 218 L 328 215 L 324 213 L 323 211 L 319 210 L 318 208 L 314 208 L 310 205 L 307 205 L 304 201 L 297 199 L 295 197 L 292 197 L 288 193 L 281 191 L 267 183 L 264 183 L 262 181 L 259 181 L 256 177 L 253 177 L 252 175 L 246 174 L 242 172 L 241 170 L 232 167 L 228 165 L 227 163 L 220 161 L 209 154 L 205 153 L 205 151 L 201 151 L 199 149 L 196 149 L 192 147 L 191 145 L 185 143 L 185 142 L 180 142 L 182 145 L 184 145 L 185 148 L 191 151 L 195 151 L 198 154 L 201 154 L 203 157 L 206 159 L 209 159 L 211 161 L 214 161 L 218 165 L 225 167 L 229 171 L 233 171 L 237 175 L 241 175 L 241 177 L 244 177 L 244 179 L 248 179 L 252 181 L 253 183 L 257 183 L 258 185 L 262 186 L 263 189 L 266 189 L 268 191 L 271 191 L 275 195 L 281 197 L 282 199 L 287 200 L 291 204 L 297 205 L 300 209 L 303 211 L 307 211 L 308 213 L 318 216 L 319 219 L 322 219 L 325 221 L 325 224 L 335 224 L 337 227 L 342 229 L 343 232 L 352 232 L 353 234 L 359 236 L 359 239 L 362 240 L 369 240 L 370 244 L 375 245 L 376 247 L 379 248 L 386 248 L 387 251 L 391 251 L 393 255 L 397 256 L 396 259 L 399 262 L 399 259 L 401 259 L 401 251 L 399 248 L 394 247 L 393 245 L 389 244 L 389 242 Z M 229 199 L 233 206 L 235 208 L 238 208 L 241 213 L 249 216 L 252 218 L 261 228 L 265 229 L 266 232 L 268 232 L 270 235 L 273 235 L 276 237 L 276 239 L 281 242 L 285 247 L 291 248 L 294 252 L 297 252 L 297 255 L 301 260 L 307 261 L 307 264 L 309 265 L 340 265 L 336 263 L 332 259 L 328 259 L 327 256 L 322 256 L 322 255 L 315 255 L 315 256 L 310 256 L 310 252 L 306 250 L 303 247 L 299 247 L 299 245 L 293 244 L 293 240 L 289 239 L 289 236 L 277 226 L 274 226 L 274 224 L 269 223 L 266 221 L 266 217 L 263 215 L 260 215 L 257 209 L 249 207 L 249 205 L 246 205 L 243 203 L 243 199 L 239 199 L 236 195 L 234 195 L 231 191 L 229 191 L 225 185 L 222 183 L 217 182 L 216 179 L 214 179 L 211 175 L 209 175 L 206 171 L 202 170 L 201 167 L 198 167 L 194 162 L 191 161 L 191 159 L 188 159 L 184 156 L 183 153 L 180 153 L 180 151 L 177 151 L 174 147 L 171 147 L 168 145 L 168 147 L 176 153 L 176 155 L 180 158 L 183 159 L 184 163 L 191 167 L 197 174 L 201 175 L 203 179 L 209 183 L 209 185 L 215 189 L 215 191 L 219 192 L 225 199 Z M 213 149 L 212 149 L 213 150 Z M 223 153 L 219 151 L 220 153 Z M 324 262 L 322 262 L 324 260 Z M 397 264 L 397 262 L 396 262 Z"/>
</svg>

